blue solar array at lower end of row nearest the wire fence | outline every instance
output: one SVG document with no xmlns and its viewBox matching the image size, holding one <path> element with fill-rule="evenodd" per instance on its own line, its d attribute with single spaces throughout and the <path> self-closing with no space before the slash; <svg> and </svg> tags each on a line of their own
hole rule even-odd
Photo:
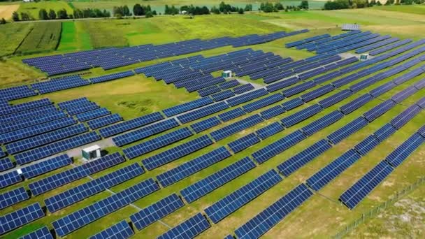
<svg viewBox="0 0 425 239">
<path fill-rule="evenodd" d="M 375 168 L 366 173 L 352 187 L 347 189 L 341 196 L 342 201 L 348 208 L 353 209 L 365 198 L 370 191 L 375 189 L 394 169 L 385 161 L 381 161 Z"/>
</svg>

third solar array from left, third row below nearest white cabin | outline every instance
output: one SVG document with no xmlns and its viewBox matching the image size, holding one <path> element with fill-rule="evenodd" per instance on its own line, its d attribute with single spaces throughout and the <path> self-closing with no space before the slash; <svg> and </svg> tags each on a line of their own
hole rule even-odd
<svg viewBox="0 0 425 239">
<path fill-rule="evenodd" d="M 231 157 L 231 153 L 226 150 L 226 147 L 219 147 L 196 159 L 187 161 L 180 166 L 157 175 L 157 179 L 163 187 L 167 187 L 228 157 Z"/>
</svg>

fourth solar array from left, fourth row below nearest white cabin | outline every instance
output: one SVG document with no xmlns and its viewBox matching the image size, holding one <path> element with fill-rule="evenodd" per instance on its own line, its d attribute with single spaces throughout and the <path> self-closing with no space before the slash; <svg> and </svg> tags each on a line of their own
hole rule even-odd
<svg viewBox="0 0 425 239">
<path fill-rule="evenodd" d="M 267 145 L 266 147 L 263 147 L 261 150 L 254 152 L 252 157 L 255 161 L 257 161 L 257 163 L 262 164 L 268 159 L 275 157 L 275 155 L 280 154 L 284 150 L 289 149 L 289 147 L 296 145 L 296 143 L 304 139 L 304 133 L 298 129 L 297 131 L 289 133 L 287 136 L 280 138 L 280 140 L 277 140 Z"/>
</svg>

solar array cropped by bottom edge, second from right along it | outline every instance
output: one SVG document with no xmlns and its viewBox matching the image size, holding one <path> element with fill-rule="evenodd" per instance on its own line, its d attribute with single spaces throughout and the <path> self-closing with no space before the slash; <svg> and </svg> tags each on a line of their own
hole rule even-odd
<svg viewBox="0 0 425 239">
<path fill-rule="evenodd" d="M 162 234 L 158 239 L 194 238 L 209 227 L 210 223 L 208 223 L 207 219 L 201 213 L 198 213 Z"/>
</svg>

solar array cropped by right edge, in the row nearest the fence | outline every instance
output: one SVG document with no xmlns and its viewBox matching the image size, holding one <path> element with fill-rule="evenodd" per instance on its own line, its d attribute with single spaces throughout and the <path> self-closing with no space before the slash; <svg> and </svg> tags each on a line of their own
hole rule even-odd
<svg viewBox="0 0 425 239">
<path fill-rule="evenodd" d="M 385 158 L 385 160 L 394 166 L 394 168 L 400 166 L 400 164 L 409 157 L 410 154 L 415 152 L 419 146 L 425 142 L 425 139 L 419 134 L 415 133 L 408 140 L 405 140 L 400 146 L 396 148 L 391 154 Z"/>
</svg>

